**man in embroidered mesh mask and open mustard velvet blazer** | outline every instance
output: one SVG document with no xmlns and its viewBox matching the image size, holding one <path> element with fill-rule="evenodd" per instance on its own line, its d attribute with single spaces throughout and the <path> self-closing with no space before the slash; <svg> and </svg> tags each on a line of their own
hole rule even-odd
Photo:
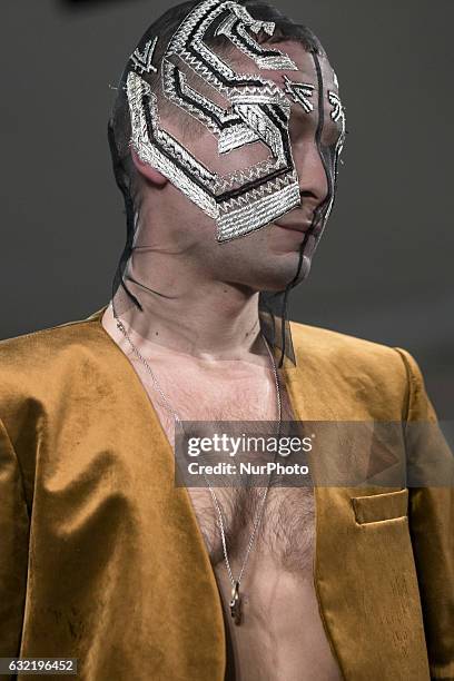
<svg viewBox="0 0 454 681">
<path fill-rule="evenodd" d="M 139 41 L 109 122 L 110 305 L 0 346 L 1 655 L 90 681 L 454 679 L 452 481 L 175 485 L 188 421 L 422 422 L 393 453 L 450 471 L 406 351 L 286 317 L 344 136 L 319 41 L 267 4 L 178 6 Z"/>
</svg>

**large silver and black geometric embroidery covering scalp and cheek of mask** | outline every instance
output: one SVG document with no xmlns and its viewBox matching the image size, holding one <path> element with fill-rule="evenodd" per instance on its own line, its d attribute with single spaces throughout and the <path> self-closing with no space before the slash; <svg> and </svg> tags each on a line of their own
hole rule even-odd
<svg viewBox="0 0 454 681">
<path fill-rule="evenodd" d="M 216 220 L 217 240 L 226 241 L 259 229 L 300 204 L 288 136 L 290 102 L 272 80 L 238 73 L 205 41 L 220 17 L 219 34 L 226 36 L 259 68 L 296 68 L 290 58 L 264 49 L 246 29 L 273 34 L 274 23 L 254 20 L 233 0 L 206 0 L 184 19 L 159 65 L 164 97 L 196 119 L 217 138 L 219 154 L 244 145 L 260 144 L 269 150 L 265 160 L 225 176 L 210 170 L 169 135 L 159 122 L 159 102 L 138 73 L 128 76 L 131 144 L 140 158 L 165 175 L 190 200 Z M 151 46 L 150 46 L 151 47 Z M 136 55 L 136 52 L 135 52 Z M 151 65 L 147 53 L 136 55 Z M 220 107 L 190 87 L 180 62 L 226 100 Z M 152 67 L 155 68 L 155 67 Z"/>
</svg>

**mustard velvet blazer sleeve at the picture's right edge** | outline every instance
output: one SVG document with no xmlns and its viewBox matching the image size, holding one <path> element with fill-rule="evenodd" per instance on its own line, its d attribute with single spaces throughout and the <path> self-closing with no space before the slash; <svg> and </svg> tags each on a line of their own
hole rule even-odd
<svg viewBox="0 0 454 681">
<path fill-rule="evenodd" d="M 454 456 L 437 423 L 412 355 L 407 372 L 405 441 L 421 486 L 408 483 L 408 524 L 423 609 L 431 679 L 454 680 Z M 422 422 L 415 424 L 413 422 Z M 424 471 L 426 464 L 427 474 Z M 422 475 L 421 475 L 422 474 Z"/>
</svg>

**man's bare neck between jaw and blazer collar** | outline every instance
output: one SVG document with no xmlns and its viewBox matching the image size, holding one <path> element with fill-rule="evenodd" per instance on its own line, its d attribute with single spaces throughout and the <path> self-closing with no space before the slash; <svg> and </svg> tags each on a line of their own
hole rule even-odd
<svg viewBox="0 0 454 681">
<path fill-rule="evenodd" d="M 132 306 L 125 316 L 117 305 L 116 310 L 144 349 L 166 349 L 206 361 L 267 355 L 260 337 L 257 292 L 204 279 L 178 258 L 172 269 L 167 258 L 167 267 L 160 267 L 156 253 L 147 267 L 146 254 L 141 256 L 140 266 L 132 259 L 126 283 L 144 309 Z M 146 272 L 154 272 L 154 283 L 158 284 L 140 275 Z M 146 283 L 146 287 L 137 282 Z"/>
</svg>

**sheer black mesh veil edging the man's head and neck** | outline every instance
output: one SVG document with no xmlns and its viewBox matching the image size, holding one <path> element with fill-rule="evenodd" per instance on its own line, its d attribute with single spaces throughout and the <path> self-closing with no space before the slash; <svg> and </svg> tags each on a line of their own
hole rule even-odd
<svg viewBox="0 0 454 681">
<path fill-rule="evenodd" d="M 177 30 L 182 19 L 198 4 L 198 2 L 185 2 L 177 7 L 169 9 L 161 18 L 155 21 L 144 33 L 142 38 L 136 47 L 142 49 L 144 46 L 158 36 L 158 42 L 154 52 L 152 62 L 158 66 L 168 46 L 169 40 Z M 322 70 L 319 68 L 318 56 L 323 56 L 323 49 L 318 39 L 314 33 L 305 26 L 296 24 L 283 14 L 268 6 L 265 2 L 256 0 L 246 0 L 240 2 L 244 4 L 254 19 L 264 21 L 274 21 L 276 23 L 275 33 L 273 37 L 266 34 L 258 34 L 258 41 L 266 42 L 279 42 L 283 40 L 298 41 L 304 48 L 313 55 L 315 60 L 318 87 L 320 98 L 323 97 L 324 87 L 322 81 Z M 217 49 L 221 55 L 223 50 L 231 49 L 231 43 L 224 37 L 208 37 L 207 42 L 210 47 Z M 136 49 L 136 48 L 135 48 Z M 134 50 L 132 50 L 134 51 Z M 124 251 L 118 263 L 117 270 L 115 273 L 112 282 L 112 307 L 116 316 L 128 323 L 128 312 L 135 308 L 135 318 L 137 319 L 137 310 L 144 310 L 142 297 L 147 295 L 161 295 L 159 292 L 154 292 L 147 286 L 146 282 L 139 282 L 131 278 L 128 273 L 128 264 L 131 255 L 137 248 L 137 201 L 135 201 L 135 188 L 134 181 L 134 167 L 130 159 L 130 137 L 131 137 L 131 125 L 129 117 L 129 106 L 126 92 L 126 82 L 129 71 L 132 70 L 131 61 L 128 60 L 127 66 L 121 75 L 118 83 L 117 97 L 114 102 L 111 116 L 108 124 L 108 139 L 110 146 L 110 152 L 112 157 L 112 166 L 116 182 L 121 190 L 125 200 L 126 211 L 126 225 L 127 225 L 127 238 Z M 159 76 L 159 71 L 158 71 Z M 159 80 L 155 75 L 144 73 L 141 76 L 147 82 L 150 83 L 152 90 L 158 93 Z M 165 106 L 165 102 L 162 102 Z M 306 246 L 309 234 L 313 229 L 318 227 L 325 219 L 329 211 L 332 200 L 334 197 L 336 176 L 337 176 L 337 154 L 334 145 L 327 145 L 324 141 L 323 127 L 324 127 L 324 102 L 322 99 L 318 102 L 319 119 L 316 132 L 316 144 L 323 160 L 326 177 L 328 180 L 329 194 L 323 205 L 318 206 L 314 214 L 314 220 L 310 229 L 306 233 L 305 238 L 300 246 L 299 251 L 299 264 L 295 272 L 295 276 L 288 282 L 287 286 L 279 292 L 266 292 L 259 293 L 259 320 L 260 329 L 267 342 L 269 343 L 277 366 L 290 368 L 295 366 L 296 358 L 294 347 L 292 343 L 290 325 L 288 320 L 288 307 L 289 307 L 289 295 L 292 289 L 298 283 L 298 274 L 302 267 L 303 251 Z M 215 237 L 214 237 L 215 238 Z M 241 238 L 247 238 L 247 235 Z M 148 254 L 148 257 L 150 254 Z M 149 260 L 150 266 L 152 260 Z M 168 292 L 171 295 L 171 292 Z M 136 322 L 137 326 L 137 322 Z M 140 329 L 137 329 L 140 333 Z"/>
</svg>

